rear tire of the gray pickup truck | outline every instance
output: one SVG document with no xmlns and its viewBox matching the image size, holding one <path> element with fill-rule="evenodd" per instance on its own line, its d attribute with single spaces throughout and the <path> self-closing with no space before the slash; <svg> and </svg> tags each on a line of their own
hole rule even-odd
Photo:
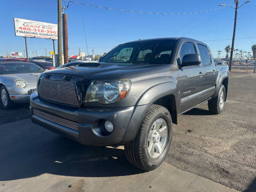
<svg viewBox="0 0 256 192">
<path fill-rule="evenodd" d="M 222 91 L 223 91 L 223 100 L 221 99 Z M 220 114 L 224 108 L 225 98 L 226 98 L 226 89 L 224 85 L 221 85 L 218 95 L 208 101 L 209 110 L 214 114 Z M 223 103 L 222 107 L 220 107 L 221 100 Z"/>
</svg>

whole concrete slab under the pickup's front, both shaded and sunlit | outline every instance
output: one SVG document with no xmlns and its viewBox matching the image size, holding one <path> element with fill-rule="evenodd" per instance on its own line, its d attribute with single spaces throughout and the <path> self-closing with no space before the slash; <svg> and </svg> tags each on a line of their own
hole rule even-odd
<svg viewBox="0 0 256 192">
<path fill-rule="evenodd" d="M 142 172 L 122 147 L 88 147 L 30 119 L 0 125 L 0 191 L 236 191 L 163 163 Z"/>
</svg>

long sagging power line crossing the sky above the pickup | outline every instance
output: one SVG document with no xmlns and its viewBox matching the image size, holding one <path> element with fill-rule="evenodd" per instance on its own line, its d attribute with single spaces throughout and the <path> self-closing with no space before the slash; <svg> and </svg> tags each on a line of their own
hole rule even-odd
<svg viewBox="0 0 256 192">
<path fill-rule="evenodd" d="M 76 2 L 76 1 L 68 1 L 68 3 L 81 4 L 81 5 L 90 6 L 90 7 L 94 7 L 94 8 L 108 9 L 108 10 L 113 10 L 113 11 L 123 11 L 123 12 L 130 12 L 130 13 L 144 13 L 144 14 L 156 14 L 156 15 L 185 15 L 185 14 L 194 14 L 194 13 L 204 13 L 204 12 L 209 12 L 209 11 L 216 11 L 216 10 L 219 10 L 219 9 L 223 8 L 223 7 L 218 7 L 218 8 L 215 8 L 215 9 L 209 9 L 209 10 L 203 10 L 203 11 L 193 11 L 193 12 L 187 12 L 187 13 L 153 13 L 153 12 L 145 12 L 145 11 L 116 9 L 116 8 L 105 7 L 105 6 L 85 4 L 85 3 Z"/>
</svg>

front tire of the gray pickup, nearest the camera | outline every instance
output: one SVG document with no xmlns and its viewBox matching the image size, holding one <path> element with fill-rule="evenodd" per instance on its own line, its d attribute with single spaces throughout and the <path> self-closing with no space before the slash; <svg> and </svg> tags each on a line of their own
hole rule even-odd
<svg viewBox="0 0 256 192">
<path fill-rule="evenodd" d="M 161 155 L 156 158 L 152 158 L 150 157 L 148 152 L 148 135 L 149 132 L 153 130 L 152 126 L 158 119 L 163 119 L 164 122 L 166 122 L 167 124 L 167 137 L 165 137 L 166 144 L 162 150 Z M 163 126 L 161 125 L 161 127 Z M 158 141 L 161 142 L 161 140 L 162 137 L 161 139 L 158 137 Z M 141 123 L 140 129 L 135 139 L 124 146 L 125 155 L 128 161 L 134 166 L 138 167 L 141 170 L 151 171 L 156 169 L 159 165 L 163 163 L 169 151 L 171 141 L 172 117 L 169 111 L 163 106 L 151 105 Z M 153 150 L 155 151 L 155 148 Z"/>
</svg>

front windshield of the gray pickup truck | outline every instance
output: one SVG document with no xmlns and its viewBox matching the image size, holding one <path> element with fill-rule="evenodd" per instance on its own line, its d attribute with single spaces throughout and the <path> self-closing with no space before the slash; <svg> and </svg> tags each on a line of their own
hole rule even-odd
<svg viewBox="0 0 256 192">
<path fill-rule="evenodd" d="M 172 58 L 176 40 L 154 40 L 118 45 L 100 62 L 168 64 Z"/>
</svg>

